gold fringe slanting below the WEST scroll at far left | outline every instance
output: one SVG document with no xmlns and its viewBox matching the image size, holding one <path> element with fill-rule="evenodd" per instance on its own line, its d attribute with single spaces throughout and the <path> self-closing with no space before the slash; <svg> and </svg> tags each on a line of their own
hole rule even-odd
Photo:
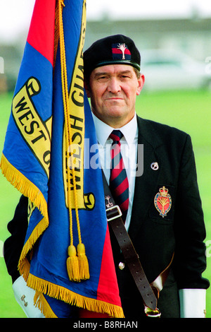
<svg viewBox="0 0 211 332">
<path fill-rule="evenodd" d="M 11 165 L 3 153 L 1 155 L 0 168 L 2 174 L 6 177 L 8 182 L 11 182 L 11 184 L 13 184 L 13 186 L 18 189 L 21 194 L 30 198 L 30 201 L 37 206 L 41 214 L 44 215 L 47 222 L 49 222 L 47 203 L 37 186 L 30 182 L 27 177 Z"/>
</svg>

